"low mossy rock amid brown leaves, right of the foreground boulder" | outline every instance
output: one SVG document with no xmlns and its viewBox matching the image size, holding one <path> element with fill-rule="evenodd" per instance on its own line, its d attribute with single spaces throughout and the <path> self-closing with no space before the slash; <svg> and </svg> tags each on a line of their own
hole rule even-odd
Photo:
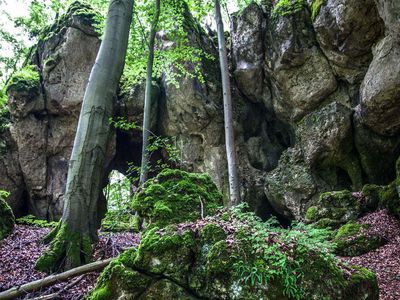
<svg viewBox="0 0 400 300">
<path fill-rule="evenodd" d="M 339 228 L 334 242 L 335 252 L 342 256 L 358 256 L 379 248 L 386 240 L 368 233 L 368 224 L 349 222 Z"/>
</svg>

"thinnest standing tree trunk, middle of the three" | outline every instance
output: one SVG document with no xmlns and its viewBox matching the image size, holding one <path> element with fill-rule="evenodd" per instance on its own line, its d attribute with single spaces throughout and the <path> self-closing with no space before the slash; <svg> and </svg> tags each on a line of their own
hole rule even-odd
<svg viewBox="0 0 400 300">
<path fill-rule="evenodd" d="M 147 74 L 146 74 L 146 91 L 144 96 L 144 113 L 143 113 L 143 146 L 142 146 L 142 164 L 140 168 L 139 185 L 142 185 L 148 177 L 150 158 L 149 158 L 149 136 L 150 136 L 150 115 L 151 115 L 151 81 L 153 77 L 153 63 L 154 63 L 154 46 L 156 41 L 156 33 L 158 20 L 160 18 L 160 0 L 155 0 L 155 14 L 151 24 L 150 40 L 149 40 L 149 59 L 147 61 Z"/>
</svg>

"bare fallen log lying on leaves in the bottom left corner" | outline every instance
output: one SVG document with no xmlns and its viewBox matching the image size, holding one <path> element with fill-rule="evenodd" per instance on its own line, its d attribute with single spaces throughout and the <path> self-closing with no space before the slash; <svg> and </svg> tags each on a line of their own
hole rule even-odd
<svg viewBox="0 0 400 300">
<path fill-rule="evenodd" d="M 31 293 L 38 289 L 51 286 L 60 281 L 66 281 L 72 277 L 76 277 L 76 276 L 79 276 L 79 275 L 82 275 L 85 273 L 103 269 L 111 261 L 112 261 L 112 258 L 105 259 L 105 260 L 99 260 L 99 261 L 96 261 L 96 262 L 93 262 L 93 263 L 90 263 L 87 265 L 83 265 L 83 266 L 68 270 L 68 271 L 60 273 L 60 274 L 50 275 L 48 277 L 45 277 L 45 278 L 42 278 L 42 279 L 39 279 L 36 281 L 32 281 L 29 283 L 25 283 L 23 285 L 15 286 L 9 290 L 1 292 L 0 300 L 15 299 L 24 294 Z"/>
</svg>

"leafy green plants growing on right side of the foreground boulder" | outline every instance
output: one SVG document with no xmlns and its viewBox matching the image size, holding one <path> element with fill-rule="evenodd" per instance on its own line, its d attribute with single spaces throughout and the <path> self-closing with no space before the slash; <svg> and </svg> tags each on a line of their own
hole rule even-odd
<svg viewBox="0 0 400 300">
<path fill-rule="evenodd" d="M 276 219 L 262 222 L 253 213 L 244 213 L 243 208 L 245 205 L 234 209 L 234 218 L 245 224 L 242 230 L 246 234 L 239 236 L 238 243 L 243 248 L 250 245 L 250 253 L 249 259 L 234 264 L 235 272 L 251 285 L 278 280 L 286 296 L 303 299 L 307 291 L 301 281 L 308 256 L 336 264 L 331 254 L 334 245 L 329 241 L 332 232 L 302 223 L 293 224 L 289 230 L 283 229 L 278 227 Z M 332 270 L 340 276 L 340 270 Z"/>
</svg>

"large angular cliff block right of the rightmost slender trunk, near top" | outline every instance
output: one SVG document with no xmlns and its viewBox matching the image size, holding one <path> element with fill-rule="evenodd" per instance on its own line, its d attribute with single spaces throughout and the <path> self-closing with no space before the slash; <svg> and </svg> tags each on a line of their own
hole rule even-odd
<svg viewBox="0 0 400 300">
<path fill-rule="evenodd" d="M 279 17 L 268 28 L 265 67 L 272 79 L 274 110 L 286 120 L 299 120 L 337 87 L 310 22 L 302 10 Z"/>
</svg>

